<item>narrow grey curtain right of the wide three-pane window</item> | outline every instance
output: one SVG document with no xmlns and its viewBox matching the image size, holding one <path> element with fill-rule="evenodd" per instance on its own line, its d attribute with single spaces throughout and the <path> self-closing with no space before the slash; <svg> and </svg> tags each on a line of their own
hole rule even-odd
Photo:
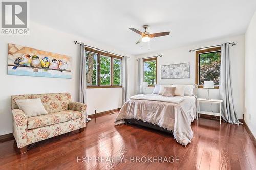
<svg viewBox="0 0 256 170">
<path fill-rule="evenodd" d="M 127 101 L 127 56 L 123 57 L 122 67 L 122 105 Z"/>
</svg>

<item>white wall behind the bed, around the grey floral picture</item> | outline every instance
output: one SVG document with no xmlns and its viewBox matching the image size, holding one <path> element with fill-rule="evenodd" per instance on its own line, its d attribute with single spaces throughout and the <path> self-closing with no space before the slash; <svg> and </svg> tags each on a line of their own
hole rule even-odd
<svg viewBox="0 0 256 170">
<path fill-rule="evenodd" d="M 153 40 L 154 41 L 154 40 Z M 231 57 L 231 74 L 233 82 L 233 98 L 238 117 L 242 119 L 242 113 L 244 109 L 244 35 L 228 37 L 217 39 L 213 41 L 199 42 L 193 45 L 187 45 L 180 48 L 175 48 L 171 50 L 159 51 L 151 54 L 144 54 L 136 56 L 136 58 L 150 57 L 155 55 L 162 55 L 163 57 L 158 57 L 158 84 L 193 84 L 195 83 L 195 52 L 188 52 L 190 49 L 200 48 L 205 46 L 219 45 L 224 42 L 236 42 L 237 45 L 230 46 L 230 57 Z M 177 63 L 187 63 L 190 62 L 190 78 L 188 79 L 161 79 L 160 77 L 160 66 L 167 64 L 177 64 Z M 137 64 L 137 63 L 136 63 Z M 137 66 L 136 66 L 137 68 Z M 137 71 L 137 69 L 136 69 Z M 137 80 L 137 79 L 136 79 Z M 150 93 L 153 88 L 147 88 L 146 92 Z M 198 90 L 198 97 L 206 97 L 206 89 Z M 210 98 L 219 99 L 219 89 L 210 89 Z M 210 106 L 205 104 L 202 109 L 207 111 L 218 111 L 216 106 Z"/>
</svg>

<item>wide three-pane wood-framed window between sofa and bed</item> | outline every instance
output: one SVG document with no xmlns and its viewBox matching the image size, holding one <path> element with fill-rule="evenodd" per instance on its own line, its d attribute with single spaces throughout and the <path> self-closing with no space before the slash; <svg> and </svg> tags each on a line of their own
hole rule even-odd
<svg viewBox="0 0 256 170">
<path fill-rule="evenodd" d="M 122 57 L 86 48 L 87 88 L 122 87 Z"/>
</svg>

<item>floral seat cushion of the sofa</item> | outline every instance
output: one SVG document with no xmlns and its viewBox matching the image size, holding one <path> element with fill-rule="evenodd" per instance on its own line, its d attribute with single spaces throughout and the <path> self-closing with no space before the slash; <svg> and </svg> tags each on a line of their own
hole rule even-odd
<svg viewBox="0 0 256 170">
<path fill-rule="evenodd" d="M 40 116 L 34 116 L 27 118 L 28 129 L 35 129 L 48 125 L 57 124 L 60 122 L 66 122 L 69 120 L 81 118 L 82 113 L 79 111 L 65 110 L 56 113 L 49 113 Z"/>
</svg>

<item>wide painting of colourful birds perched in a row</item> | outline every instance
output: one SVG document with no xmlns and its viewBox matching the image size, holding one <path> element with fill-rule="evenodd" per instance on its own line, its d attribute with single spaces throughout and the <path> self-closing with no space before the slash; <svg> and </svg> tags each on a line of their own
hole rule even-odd
<svg viewBox="0 0 256 170">
<path fill-rule="evenodd" d="M 8 74 L 71 78 L 72 58 L 67 55 L 8 44 Z"/>
</svg>

